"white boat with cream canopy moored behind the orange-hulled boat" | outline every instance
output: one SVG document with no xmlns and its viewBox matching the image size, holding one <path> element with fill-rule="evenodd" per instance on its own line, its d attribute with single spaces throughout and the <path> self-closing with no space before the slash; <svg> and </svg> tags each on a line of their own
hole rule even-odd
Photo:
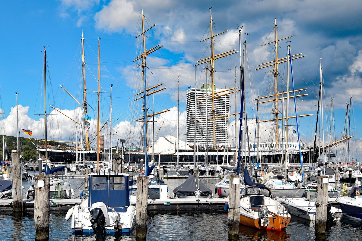
<svg viewBox="0 0 362 241">
<path fill-rule="evenodd" d="M 274 197 L 302 197 L 305 187 L 298 187 L 290 182 L 287 182 L 281 175 L 277 175 L 274 172 L 269 172 L 264 177 L 264 185 L 270 188 L 273 192 Z"/>
</svg>

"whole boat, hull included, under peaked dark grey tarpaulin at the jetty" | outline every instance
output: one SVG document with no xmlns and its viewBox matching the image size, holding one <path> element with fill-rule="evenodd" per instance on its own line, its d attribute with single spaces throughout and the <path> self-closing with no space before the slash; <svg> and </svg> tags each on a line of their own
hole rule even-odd
<svg viewBox="0 0 362 241">
<path fill-rule="evenodd" d="M 208 198 L 212 191 L 194 175 L 189 175 L 184 183 L 173 189 L 178 198 Z"/>
</svg>

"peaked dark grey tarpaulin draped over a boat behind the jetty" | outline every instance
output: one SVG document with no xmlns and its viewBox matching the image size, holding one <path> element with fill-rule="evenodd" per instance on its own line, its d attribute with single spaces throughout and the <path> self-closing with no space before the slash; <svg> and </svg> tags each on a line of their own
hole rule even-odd
<svg viewBox="0 0 362 241">
<path fill-rule="evenodd" d="M 173 189 L 176 195 L 188 196 L 195 195 L 195 191 L 201 191 L 201 195 L 210 195 L 212 191 L 201 183 L 194 175 L 189 175 L 184 183 Z"/>
</svg>

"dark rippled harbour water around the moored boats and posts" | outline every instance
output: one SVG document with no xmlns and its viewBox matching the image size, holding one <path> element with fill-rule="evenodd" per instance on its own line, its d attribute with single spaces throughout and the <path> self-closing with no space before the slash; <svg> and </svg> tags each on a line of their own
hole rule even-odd
<svg viewBox="0 0 362 241">
<path fill-rule="evenodd" d="M 166 179 L 169 186 L 168 196 L 173 197 L 172 190 L 186 179 Z M 70 179 L 75 196 L 80 194 L 84 187 L 81 178 Z M 215 179 L 202 181 L 212 191 L 215 189 Z M 23 182 L 23 191 L 29 186 Z M 216 195 L 216 196 L 215 196 Z M 214 194 L 217 198 L 217 194 Z M 97 240 L 94 235 L 74 235 L 71 229 L 71 220 L 66 221 L 67 211 L 50 211 L 49 240 Z M 14 216 L 13 211 L 0 212 L 2 224 L 1 241 L 5 240 L 35 240 L 34 212 L 28 210 L 26 215 Z M 326 234 L 316 236 L 314 223 L 292 216 L 292 219 L 282 231 L 261 231 L 240 225 L 239 237 L 228 237 L 227 213 L 221 211 L 149 211 L 147 215 L 147 240 L 273 240 L 273 241 L 356 241 L 361 240 L 362 221 L 356 221 L 346 216 L 327 226 Z M 130 235 L 107 236 L 105 240 L 135 240 L 135 229 Z"/>
</svg>

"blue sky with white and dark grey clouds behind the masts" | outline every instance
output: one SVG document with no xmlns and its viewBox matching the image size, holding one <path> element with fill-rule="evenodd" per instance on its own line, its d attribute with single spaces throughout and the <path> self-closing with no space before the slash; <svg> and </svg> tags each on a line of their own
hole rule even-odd
<svg viewBox="0 0 362 241">
<path fill-rule="evenodd" d="M 308 143 L 315 132 L 319 61 L 322 58 L 324 130 L 327 130 L 324 136 L 328 139 L 328 130 L 332 129 L 332 139 L 340 137 L 344 130 L 347 103 L 352 96 L 349 133 L 354 137 L 351 139 L 351 148 L 354 146 L 355 150 L 362 150 L 361 123 L 358 121 L 362 111 L 362 6 L 357 0 L 346 0 L 343 4 L 326 0 L 2 1 L 0 133 L 16 135 L 18 111 L 20 128 L 31 130 L 34 138 L 44 138 L 44 55 L 41 51 L 47 46 L 48 138 L 63 141 L 79 138 L 78 125 L 50 105 L 72 119 L 83 116 L 80 105 L 60 87 L 62 85 L 81 103 L 83 81 L 80 40 L 83 30 L 88 114 L 92 117 L 89 134 L 94 136 L 96 130 L 97 95 L 92 91 L 97 91 L 98 37 L 101 39 L 100 122 L 104 124 L 106 120 L 110 120 L 112 85 L 112 132 L 116 136 L 112 139 L 129 138 L 130 135 L 138 134 L 139 126 L 132 120 L 140 115 L 140 108 L 136 109 L 132 100 L 141 88 L 140 68 L 135 66 L 134 58 L 140 54 L 142 47 L 142 39 L 136 38 L 140 33 L 142 8 L 146 18 L 145 29 L 155 24 L 147 31 L 146 48 L 151 49 L 157 44 L 163 46 L 147 59 L 148 86 L 164 83 L 166 87 L 154 95 L 154 111 L 171 109 L 156 117 L 154 129 L 155 132 L 159 130 L 158 135 L 176 136 L 179 116 L 180 139 L 185 139 L 186 91 L 189 86 L 195 85 L 196 61 L 210 56 L 210 41 L 200 40 L 210 36 L 211 11 L 214 34 L 228 30 L 215 38 L 215 53 L 233 49 L 239 51 L 239 27 L 243 26 L 241 42 L 247 41 L 246 82 L 250 133 L 254 135 L 254 99 L 271 90 L 271 75 L 266 74 L 270 73 L 270 69 L 255 69 L 257 65 L 273 59 L 273 46 L 261 45 L 274 38 L 276 22 L 278 39 L 295 35 L 279 42 L 279 58 L 286 56 L 288 44 L 293 54 L 305 55 L 293 61 L 295 89 L 307 88 L 308 94 L 298 100 L 297 110 L 298 115 L 314 115 L 300 118 L 301 138 Z M 232 88 L 235 85 L 235 66 L 239 78 L 239 53 L 216 60 L 216 87 Z M 202 66 L 198 66 L 196 72 L 199 87 L 208 77 Z M 286 73 L 285 65 L 279 65 L 279 73 L 281 79 Z M 17 108 L 16 93 L 19 93 Z M 148 107 L 152 109 L 152 97 L 147 101 Z M 270 106 L 260 108 L 268 109 Z M 235 122 L 231 118 L 231 125 L 233 123 Z M 296 129 L 295 124 L 293 128 Z M 108 135 L 110 131 L 106 129 L 105 127 L 102 133 Z M 262 126 L 261 129 L 268 132 L 268 126 Z M 232 130 L 230 135 L 234 135 Z M 266 138 L 267 134 L 263 135 Z M 26 137 L 24 133 L 21 136 Z M 322 139 L 321 136 L 320 138 Z"/>
</svg>

